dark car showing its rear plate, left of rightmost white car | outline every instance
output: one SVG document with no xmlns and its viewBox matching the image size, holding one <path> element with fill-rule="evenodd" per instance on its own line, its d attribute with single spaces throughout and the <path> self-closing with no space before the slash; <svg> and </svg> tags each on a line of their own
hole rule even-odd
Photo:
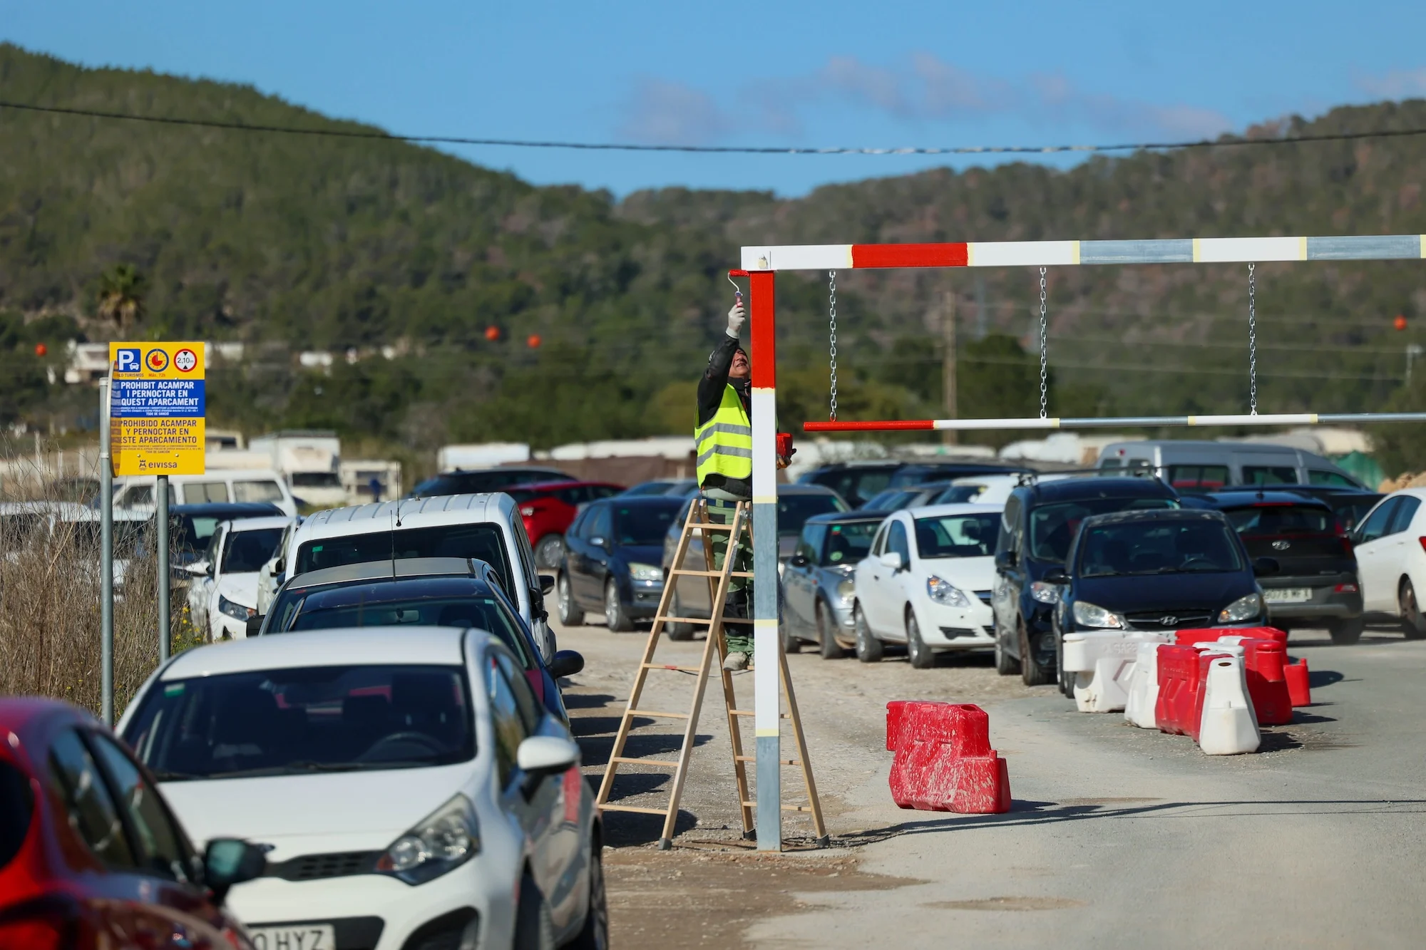
<svg viewBox="0 0 1426 950">
<path fill-rule="evenodd" d="M 1278 562 L 1278 573 L 1262 582 L 1273 626 L 1320 623 L 1333 643 L 1362 639 L 1356 555 L 1326 501 L 1292 489 L 1214 492 L 1202 502 L 1228 516 L 1249 556 Z"/>
</svg>

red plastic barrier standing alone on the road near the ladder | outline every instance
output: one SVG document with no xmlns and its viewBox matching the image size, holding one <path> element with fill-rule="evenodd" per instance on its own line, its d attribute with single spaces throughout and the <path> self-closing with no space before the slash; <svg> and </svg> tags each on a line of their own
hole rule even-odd
<svg viewBox="0 0 1426 950">
<path fill-rule="evenodd" d="M 903 809 L 1010 810 L 1010 770 L 990 747 L 990 716 L 971 703 L 887 703 L 891 799 Z"/>
</svg>

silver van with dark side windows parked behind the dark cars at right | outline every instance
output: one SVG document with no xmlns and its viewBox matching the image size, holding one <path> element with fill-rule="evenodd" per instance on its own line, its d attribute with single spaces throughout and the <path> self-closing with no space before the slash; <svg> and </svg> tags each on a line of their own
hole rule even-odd
<svg viewBox="0 0 1426 950">
<path fill-rule="evenodd" d="M 1233 485 L 1366 488 L 1320 455 L 1262 442 L 1111 442 L 1099 451 L 1097 468 L 1101 475 L 1152 472 L 1172 488 L 1189 492 L 1215 492 Z"/>
</svg>

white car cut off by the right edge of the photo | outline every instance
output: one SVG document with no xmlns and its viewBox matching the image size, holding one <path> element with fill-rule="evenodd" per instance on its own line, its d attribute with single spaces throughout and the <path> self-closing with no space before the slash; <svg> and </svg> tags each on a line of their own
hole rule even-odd
<svg viewBox="0 0 1426 950">
<path fill-rule="evenodd" d="M 1362 609 L 1395 613 L 1407 639 L 1426 638 L 1426 488 L 1405 488 L 1376 504 L 1353 532 Z"/>
</svg>

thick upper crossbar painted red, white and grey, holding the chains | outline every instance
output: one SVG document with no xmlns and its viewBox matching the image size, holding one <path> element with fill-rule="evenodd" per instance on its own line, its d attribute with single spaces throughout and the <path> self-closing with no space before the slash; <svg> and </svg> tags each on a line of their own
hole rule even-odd
<svg viewBox="0 0 1426 950">
<path fill-rule="evenodd" d="M 1426 258 L 1426 235 L 1152 238 L 1141 241 L 960 241 L 954 244 L 783 244 L 743 248 L 747 271 L 867 267 L 1065 267 Z"/>
</svg>

